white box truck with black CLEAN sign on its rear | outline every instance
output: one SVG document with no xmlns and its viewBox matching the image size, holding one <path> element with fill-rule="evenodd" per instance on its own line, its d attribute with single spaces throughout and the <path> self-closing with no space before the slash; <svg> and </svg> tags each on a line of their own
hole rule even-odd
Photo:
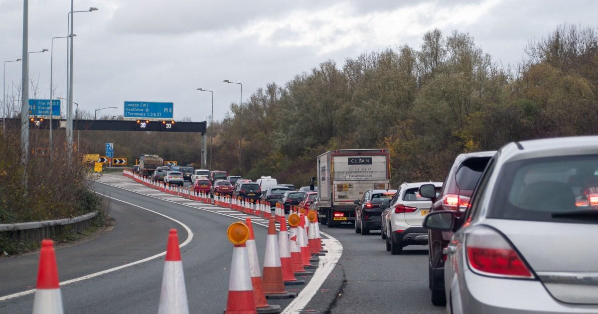
<svg viewBox="0 0 598 314">
<path fill-rule="evenodd" d="M 388 149 L 334 150 L 318 156 L 318 218 L 328 227 L 355 222 L 353 200 L 390 188 Z"/>
</svg>

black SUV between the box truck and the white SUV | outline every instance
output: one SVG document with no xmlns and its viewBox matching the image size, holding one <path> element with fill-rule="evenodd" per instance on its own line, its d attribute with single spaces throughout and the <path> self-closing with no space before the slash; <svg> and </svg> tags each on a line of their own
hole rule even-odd
<svg viewBox="0 0 598 314">
<path fill-rule="evenodd" d="M 367 190 L 361 200 L 355 203 L 355 233 L 370 234 L 370 230 L 382 228 L 382 212 L 380 205 L 395 196 L 396 190 Z M 388 207 L 388 206 L 387 206 Z"/>
</svg>

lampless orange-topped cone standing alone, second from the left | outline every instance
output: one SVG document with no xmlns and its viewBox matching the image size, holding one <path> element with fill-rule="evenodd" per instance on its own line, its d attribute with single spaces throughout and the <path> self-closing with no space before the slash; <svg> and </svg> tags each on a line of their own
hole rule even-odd
<svg viewBox="0 0 598 314">
<path fill-rule="evenodd" d="M 179 249 L 179 236 L 176 234 L 176 229 L 170 229 L 168 234 L 160 306 L 158 306 L 158 314 L 170 313 L 189 313 L 181 250 Z"/>
</svg>

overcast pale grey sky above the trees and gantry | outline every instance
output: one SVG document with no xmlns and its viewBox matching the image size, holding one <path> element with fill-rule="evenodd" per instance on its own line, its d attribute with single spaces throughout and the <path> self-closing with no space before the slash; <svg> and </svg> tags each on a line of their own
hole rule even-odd
<svg viewBox="0 0 598 314">
<path fill-rule="evenodd" d="M 124 100 L 174 102 L 175 118 L 221 119 L 231 102 L 267 83 L 332 59 L 408 44 L 423 33 L 457 29 L 505 65 L 523 57 L 529 39 L 562 23 L 596 26 L 598 1 L 155 1 L 77 0 L 74 97 L 80 109 L 105 106 L 123 114 Z M 68 0 L 29 1 L 29 51 L 50 49 L 66 36 Z M 21 57 L 23 1 L 0 0 L 0 59 Z M 49 98 L 50 52 L 30 56 L 39 75 L 38 98 Z M 20 80 L 20 63 L 7 63 L 7 86 Z M 54 40 L 54 85 L 66 95 L 66 41 Z M 63 106 L 64 107 L 64 106 Z"/>
</svg>

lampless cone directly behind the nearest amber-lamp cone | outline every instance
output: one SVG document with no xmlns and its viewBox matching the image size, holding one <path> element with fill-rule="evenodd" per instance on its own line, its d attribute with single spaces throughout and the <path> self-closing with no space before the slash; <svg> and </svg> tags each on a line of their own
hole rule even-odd
<svg viewBox="0 0 598 314">
<path fill-rule="evenodd" d="M 254 302 L 258 313 L 279 313 L 279 305 L 270 305 L 266 301 L 264 289 L 262 288 L 260 260 L 258 259 L 258 250 L 255 247 L 254 228 L 251 225 L 251 218 L 245 218 L 245 225 L 249 229 L 249 239 L 245 242 L 249 258 L 249 275 L 251 276 L 251 285 L 254 288 Z M 276 311 L 277 310 L 277 311 Z M 275 311 L 275 312 L 270 312 Z"/>
</svg>

